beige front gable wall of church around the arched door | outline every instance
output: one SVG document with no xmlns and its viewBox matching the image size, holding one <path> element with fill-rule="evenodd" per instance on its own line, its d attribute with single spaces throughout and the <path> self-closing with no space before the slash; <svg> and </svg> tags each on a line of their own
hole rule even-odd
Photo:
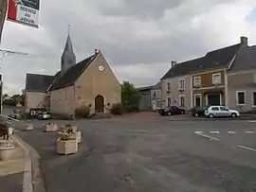
<svg viewBox="0 0 256 192">
<path fill-rule="evenodd" d="M 100 70 L 100 66 L 103 70 Z M 91 105 L 91 113 L 95 113 L 95 97 L 101 95 L 106 113 L 113 104 L 120 103 L 120 92 L 118 79 L 100 53 L 75 83 L 75 106 Z M 106 107 L 107 103 L 109 107 Z"/>
</svg>

